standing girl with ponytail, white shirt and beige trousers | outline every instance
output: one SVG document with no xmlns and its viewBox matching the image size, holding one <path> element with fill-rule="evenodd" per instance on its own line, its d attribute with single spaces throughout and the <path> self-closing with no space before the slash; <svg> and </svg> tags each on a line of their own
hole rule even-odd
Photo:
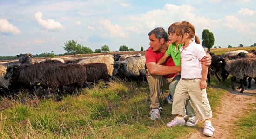
<svg viewBox="0 0 256 139">
<path fill-rule="evenodd" d="M 208 66 L 200 63 L 206 53 L 195 35 L 195 27 L 189 22 L 183 21 L 178 25 L 175 34 L 179 43 L 184 44 L 180 49 L 182 72 L 173 97 L 172 114 L 177 116 L 166 125 L 171 127 L 185 124 L 182 114 L 186 100 L 190 97 L 195 105 L 196 116 L 205 120 L 203 134 L 212 136 L 215 129 L 211 125 L 212 111 L 205 89 Z"/>
</svg>

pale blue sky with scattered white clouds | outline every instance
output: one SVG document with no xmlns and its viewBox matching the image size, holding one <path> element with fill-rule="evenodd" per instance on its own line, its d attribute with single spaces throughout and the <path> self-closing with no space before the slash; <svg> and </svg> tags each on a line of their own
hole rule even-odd
<svg viewBox="0 0 256 139">
<path fill-rule="evenodd" d="M 256 0 L 0 0 L 0 56 L 63 54 L 75 40 L 92 51 L 149 47 L 148 33 L 189 21 L 214 46 L 256 43 Z"/>
</svg>

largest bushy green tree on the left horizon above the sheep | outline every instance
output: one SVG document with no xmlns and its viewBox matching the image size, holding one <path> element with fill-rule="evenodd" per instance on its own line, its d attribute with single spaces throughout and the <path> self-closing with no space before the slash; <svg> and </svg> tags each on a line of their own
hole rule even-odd
<svg viewBox="0 0 256 139">
<path fill-rule="evenodd" d="M 76 41 L 74 41 L 73 39 L 72 40 L 69 40 L 68 42 L 64 43 L 65 46 L 62 46 L 64 50 L 67 51 L 67 53 L 72 53 L 74 54 L 77 54 L 80 49 L 81 49 L 81 45 L 78 44 Z"/>
</svg>

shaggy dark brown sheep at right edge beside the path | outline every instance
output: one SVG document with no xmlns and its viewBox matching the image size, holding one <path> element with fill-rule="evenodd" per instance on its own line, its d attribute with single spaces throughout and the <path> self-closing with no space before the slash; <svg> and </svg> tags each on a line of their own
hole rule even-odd
<svg viewBox="0 0 256 139">
<path fill-rule="evenodd" d="M 242 79 L 240 88 L 242 90 L 240 93 L 243 93 L 244 87 L 243 84 L 246 82 L 245 77 L 256 77 L 256 59 L 255 58 L 242 58 L 242 59 L 236 59 L 236 60 L 229 60 L 225 59 L 226 61 L 226 66 L 225 69 L 233 75 L 231 77 L 231 83 L 232 83 L 232 88 L 235 89 L 234 87 L 234 81 L 236 78 Z"/>
</svg>

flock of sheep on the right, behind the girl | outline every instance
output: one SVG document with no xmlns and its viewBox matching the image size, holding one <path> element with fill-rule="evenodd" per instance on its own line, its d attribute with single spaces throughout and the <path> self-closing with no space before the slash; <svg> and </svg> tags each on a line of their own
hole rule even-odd
<svg viewBox="0 0 256 139">
<path fill-rule="evenodd" d="M 241 89 L 240 93 L 243 93 L 244 86 L 247 86 L 246 79 L 248 78 L 249 85 L 248 88 L 251 88 L 251 80 L 252 78 L 256 81 L 256 51 L 245 51 L 245 50 L 237 50 L 237 51 L 228 51 L 223 55 L 215 55 L 211 53 L 212 56 L 212 64 L 209 67 L 208 71 L 208 84 L 210 85 L 210 73 L 216 75 L 219 81 L 221 79 L 218 77 L 218 72 L 220 71 L 220 75 L 222 80 L 225 81 L 228 75 L 233 75 L 231 77 L 231 86 L 232 89 L 235 89 L 234 82 L 236 78 L 240 79 L 240 87 L 237 89 Z M 256 82 L 255 82 L 256 84 Z"/>
</svg>

